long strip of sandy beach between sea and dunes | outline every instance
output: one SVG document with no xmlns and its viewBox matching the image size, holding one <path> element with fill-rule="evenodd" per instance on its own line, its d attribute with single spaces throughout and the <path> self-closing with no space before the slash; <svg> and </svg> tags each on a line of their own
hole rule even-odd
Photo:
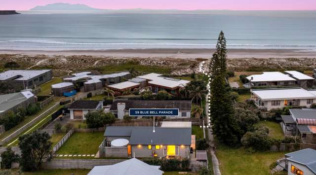
<svg viewBox="0 0 316 175">
<path fill-rule="evenodd" d="M 88 55 L 118 58 L 209 58 L 214 49 L 117 49 L 117 50 L 65 50 L 65 51 L 24 51 L 0 50 L 0 54 L 21 55 Z M 316 58 L 316 51 L 299 49 L 228 49 L 228 58 Z"/>
</svg>

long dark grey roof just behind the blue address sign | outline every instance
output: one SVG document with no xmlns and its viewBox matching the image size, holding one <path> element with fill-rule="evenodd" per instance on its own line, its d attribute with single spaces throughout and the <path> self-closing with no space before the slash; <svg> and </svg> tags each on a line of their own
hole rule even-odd
<svg viewBox="0 0 316 175">
<path fill-rule="evenodd" d="M 118 103 L 125 103 L 125 110 L 129 108 L 179 108 L 190 110 L 190 100 L 118 100 L 114 101 L 110 110 L 118 110 Z"/>
</svg>

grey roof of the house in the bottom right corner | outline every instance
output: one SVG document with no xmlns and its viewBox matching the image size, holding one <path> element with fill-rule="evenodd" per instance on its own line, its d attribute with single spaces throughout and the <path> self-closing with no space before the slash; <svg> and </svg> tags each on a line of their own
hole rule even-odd
<svg viewBox="0 0 316 175">
<path fill-rule="evenodd" d="M 285 154 L 287 160 L 307 166 L 313 173 L 316 173 L 316 150 L 307 148 Z"/>
</svg>

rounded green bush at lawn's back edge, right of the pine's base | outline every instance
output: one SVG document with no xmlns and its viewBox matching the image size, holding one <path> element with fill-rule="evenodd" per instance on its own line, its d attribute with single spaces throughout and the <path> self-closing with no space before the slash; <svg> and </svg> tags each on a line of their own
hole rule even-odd
<svg viewBox="0 0 316 175">
<path fill-rule="evenodd" d="M 267 132 L 268 129 L 268 132 Z M 271 146 L 271 139 L 269 137 L 269 128 L 258 127 L 253 132 L 247 132 L 241 139 L 241 144 L 246 148 L 254 150 L 269 150 Z"/>
</svg>

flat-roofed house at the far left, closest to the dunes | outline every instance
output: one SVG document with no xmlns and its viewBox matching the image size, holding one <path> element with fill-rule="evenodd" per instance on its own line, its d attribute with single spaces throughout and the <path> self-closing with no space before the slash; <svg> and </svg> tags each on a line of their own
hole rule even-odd
<svg viewBox="0 0 316 175">
<path fill-rule="evenodd" d="M 52 76 L 52 70 L 8 70 L 0 73 L 0 82 L 17 90 L 32 89 L 51 80 Z"/>
</svg>

